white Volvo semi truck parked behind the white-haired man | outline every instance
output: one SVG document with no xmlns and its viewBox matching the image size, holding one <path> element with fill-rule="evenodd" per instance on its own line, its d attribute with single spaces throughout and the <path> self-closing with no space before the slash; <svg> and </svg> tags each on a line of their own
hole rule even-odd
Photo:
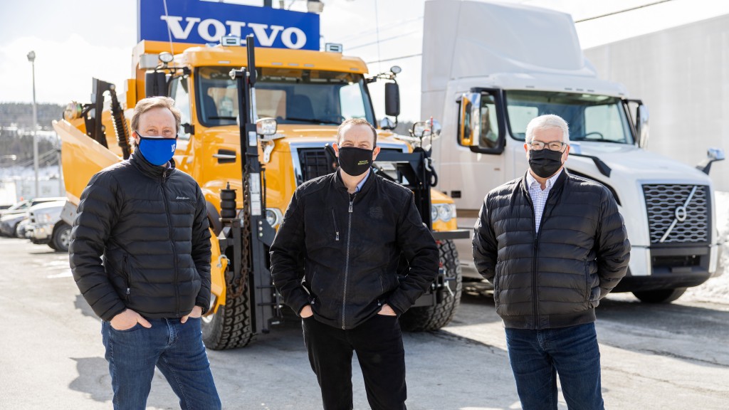
<svg viewBox="0 0 729 410">
<path fill-rule="evenodd" d="M 709 169 L 724 153 L 709 150 L 694 168 L 645 150 L 647 108 L 598 78 L 569 14 L 426 1 L 422 67 L 421 117 L 443 125 L 433 142 L 437 188 L 456 201 L 462 228 L 472 228 L 489 190 L 525 173 L 529 120 L 555 114 L 569 123 L 566 169 L 608 187 L 625 218 L 631 262 L 616 292 L 670 302 L 720 274 Z M 459 242 L 464 277 L 479 278 L 470 242 Z"/>
</svg>

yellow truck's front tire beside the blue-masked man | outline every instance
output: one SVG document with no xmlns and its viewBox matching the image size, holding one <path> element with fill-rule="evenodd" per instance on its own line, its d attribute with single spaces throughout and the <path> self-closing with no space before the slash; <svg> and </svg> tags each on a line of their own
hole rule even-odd
<svg viewBox="0 0 729 410">
<path fill-rule="evenodd" d="M 227 298 L 215 314 L 203 317 L 203 341 L 208 349 L 246 347 L 254 339 L 248 289 L 238 298 Z"/>
</svg>

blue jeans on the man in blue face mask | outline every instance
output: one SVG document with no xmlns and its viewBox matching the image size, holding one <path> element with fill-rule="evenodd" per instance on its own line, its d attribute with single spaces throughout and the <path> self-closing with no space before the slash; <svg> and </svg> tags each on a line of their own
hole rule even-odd
<svg viewBox="0 0 729 410">
<path fill-rule="evenodd" d="M 181 409 L 221 408 L 203 344 L 200 318 L 149 319 L 152 328 L 137 323 L 116 330 L 102 322 L 101 335 L 112 375 L 114 409 L 144 409 L 155 365 L 179 398 Z"/>
</svg>

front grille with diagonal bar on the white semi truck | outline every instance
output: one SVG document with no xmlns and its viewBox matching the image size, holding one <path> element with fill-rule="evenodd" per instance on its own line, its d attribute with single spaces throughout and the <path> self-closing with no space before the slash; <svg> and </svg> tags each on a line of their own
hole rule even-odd
<svg viewBox="0 0 729 410">
<path fill-rule="evenodd" d="M 691 196 L 694 187 L 696 190 Z M 706 185 L 643 185 L 650 242 L 708 242 L 711 226 L 708 190 Z M 668 235 L 667 231 L 670 231 Z"/>
</svg>

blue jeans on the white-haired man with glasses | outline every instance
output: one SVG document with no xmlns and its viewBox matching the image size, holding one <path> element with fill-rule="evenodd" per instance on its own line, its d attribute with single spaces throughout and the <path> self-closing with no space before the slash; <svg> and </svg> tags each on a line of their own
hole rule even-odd
<svg viewBox="0 0 729 410">
<path fill-rule="evenodd" d="M 524 410 L 557 409 L 557 377 L 570 410 L 602 410 L 595 324 L 506 329 L 509 361 Z"/>
</svg>

